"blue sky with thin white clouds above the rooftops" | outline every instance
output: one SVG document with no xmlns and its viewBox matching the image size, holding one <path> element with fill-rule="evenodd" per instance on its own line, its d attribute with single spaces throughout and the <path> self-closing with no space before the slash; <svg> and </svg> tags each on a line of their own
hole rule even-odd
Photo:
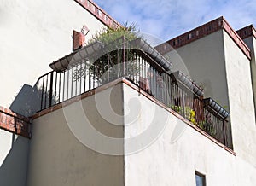
<svg viewBox="0 0 256 186">
<path fill-rule="evenodd" d="M 256 0 L 95 0 L 120 23 L 137 23 L 141 32 L 164 41 L 197 26 L 224 18 L 235 29 L 256 26 Z"/>
</svg>

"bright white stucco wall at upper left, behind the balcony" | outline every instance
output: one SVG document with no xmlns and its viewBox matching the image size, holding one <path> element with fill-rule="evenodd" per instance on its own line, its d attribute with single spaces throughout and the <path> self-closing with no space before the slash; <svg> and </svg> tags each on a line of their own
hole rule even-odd
<svg viewBox="0 0 256 186">
<path fill-rule="evenodd" d="M 23 84 L 33 85 L 49 63 L 72 51 L 73 30 L 88 37 L 102 23 L 73 0 L 0 1 L 0 105 L 8 108 Z"/>
</svg>

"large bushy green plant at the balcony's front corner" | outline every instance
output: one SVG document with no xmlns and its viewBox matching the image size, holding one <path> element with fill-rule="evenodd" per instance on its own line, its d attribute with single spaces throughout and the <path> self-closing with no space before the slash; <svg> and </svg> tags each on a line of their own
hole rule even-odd
<svg viewBox="0 0 256 186">
<path fill-rule="evenodd" d="M 89 73 L 104 84 L 123 75 L 133 77 L 139 73 L 138 57 L 127 44 L 139 38 L 135 24 L 102 28 L 90 39 L 89 44 L 101 42 L 103 52 L 90 64 Z M 128 42 L 128 43 L 127 43 Z"/>
</svg>

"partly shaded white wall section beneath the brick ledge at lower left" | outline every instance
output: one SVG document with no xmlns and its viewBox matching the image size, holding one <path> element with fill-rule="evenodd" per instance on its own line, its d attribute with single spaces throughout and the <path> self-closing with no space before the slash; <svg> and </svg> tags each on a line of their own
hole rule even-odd
<svg viewBox="0 0 256 186">
<path fill-rule="evenodd" d="M 1 185 L 26 186 L 29 139 L 0 129 Z"/>
</svg>

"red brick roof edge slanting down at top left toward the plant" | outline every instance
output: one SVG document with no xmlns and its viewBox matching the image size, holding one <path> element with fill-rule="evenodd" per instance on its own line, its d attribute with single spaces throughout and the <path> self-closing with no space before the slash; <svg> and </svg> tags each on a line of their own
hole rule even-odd
<svg viewBox="0 0 256 186">
<path fill-rule="evenodd" d="M 91 15 L 100 20 L 105 26 L 117 27 L 122 26 L 117 20 L 114 20 L 107 12 L 100 8 L 96 3 L 90 0 L 74 0 L 79 3 L 84 9 L 88 10 Z"/>
</svg>

